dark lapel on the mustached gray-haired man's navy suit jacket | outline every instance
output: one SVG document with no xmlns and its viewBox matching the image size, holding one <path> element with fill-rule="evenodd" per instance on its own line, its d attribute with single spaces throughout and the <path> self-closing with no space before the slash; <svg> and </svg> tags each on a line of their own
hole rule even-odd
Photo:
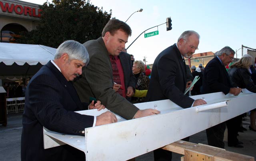
<svg viewBox="0 0 256 161">
<path fill-rule="evenodd" d="M 78 97 L 78 94 L 76 92 L 76 89 L 74 88 L 73 84 L 66 80 L 66 78 L 63 76 L 63 74 L 52 64 L 52 62 L 48 62 L 46 64 L 48 68 L 52 71 L 54 76 L 56 76 L 56 79 L 60 82 L 60 84 L 67 90 L 70 97 L 74 100 L 76 105 L 83 109 L 83 105 Z"/>
</svg>

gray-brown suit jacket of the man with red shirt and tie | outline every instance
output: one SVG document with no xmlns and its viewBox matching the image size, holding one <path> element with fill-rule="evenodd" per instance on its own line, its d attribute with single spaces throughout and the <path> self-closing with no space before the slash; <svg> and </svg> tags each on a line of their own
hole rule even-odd
<svg viewBox="0 0 256 161">
<path fill-rule="evenodd" d="M 89 53 L 90 62 L 82 69 L 82 76 L 74 81 L 74 87 L 81 101 L 88 102 L 90 97 L 95 97 L 114 113 L 125 119 L 132 119 L 138 108 L 113 89 L 112 64 L 103 39 L 90 40 L 83 45 Z M 136 78 L 131 71 L 130 55 L 121 52 L 119 58 L 124 71 L 125 89 L 128 86 L 135 87 Z"/>
</svg>

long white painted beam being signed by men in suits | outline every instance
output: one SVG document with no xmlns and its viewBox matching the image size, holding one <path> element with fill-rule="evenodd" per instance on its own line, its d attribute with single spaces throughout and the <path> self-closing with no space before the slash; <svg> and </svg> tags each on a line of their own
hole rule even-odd
<svg viewBox="0 0 256 161">
<path fill-rule="evenodd" d="M 55 143 L 57 139 L 84 151 L 86 161 L 124 161 L 250 111 L 256 105 L 256 94 L 246 89 L 238 96 L 218 92 L 191 97 L 204 97 L 208 104 L 182 109 L 170 100 L 137 103 L 135 105 L 140 109 L 154 109 L 157 105 L 161 114 L 126 121 L 118 117 L 117 123 L 86 128 L 85 137 L 64 135 L 44 128 L 44 135 L 49 136 L 44 137 L 44 147 L 60 145 Z M 226 106 L 215 108 L 220 104 Z M 197 113 L 198 108 L 206 110 Z M 104 111 L 106 109 L 78 112 L 100 115 Z"/>
</svg>

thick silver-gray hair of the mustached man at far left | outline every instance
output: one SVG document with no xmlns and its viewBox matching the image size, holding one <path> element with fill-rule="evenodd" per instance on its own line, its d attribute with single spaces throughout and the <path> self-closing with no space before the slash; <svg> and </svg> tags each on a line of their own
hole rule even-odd
<svg viewBox="0 0 256 161">
<path fill-rule="evenodd" d="M 89 54 L 86 48 L 74 40 L 67 40 L 60 44 L 56 50 L 54 59 L 59 59 L 64 53 L 68 54 L 69 61 L 75 59 L 82 61 L 84 64 L 88 64 L 89 62 Z"/>
</svg>

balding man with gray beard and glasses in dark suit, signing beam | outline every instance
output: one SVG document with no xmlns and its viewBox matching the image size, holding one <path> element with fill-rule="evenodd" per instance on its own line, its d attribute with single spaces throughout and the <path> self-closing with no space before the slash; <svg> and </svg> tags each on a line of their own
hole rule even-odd
<svg viewBox="0 0 256 161">
<path fill-rule="evenodd" d="M 185 31 L 178 42 L 164 51 L 155 59 L 146 101 L 170 99 L 182 108 L 206 104 L 202 99 L 194 100 L 184 91 L 189 87 L 186 82 L 185 58 L 190 58 L 199 44 L 199 34 L 195 31 Z M 163 149 L 154 151 L 155 161 L 172 159 L 172 152 Z"/>
</svg>

